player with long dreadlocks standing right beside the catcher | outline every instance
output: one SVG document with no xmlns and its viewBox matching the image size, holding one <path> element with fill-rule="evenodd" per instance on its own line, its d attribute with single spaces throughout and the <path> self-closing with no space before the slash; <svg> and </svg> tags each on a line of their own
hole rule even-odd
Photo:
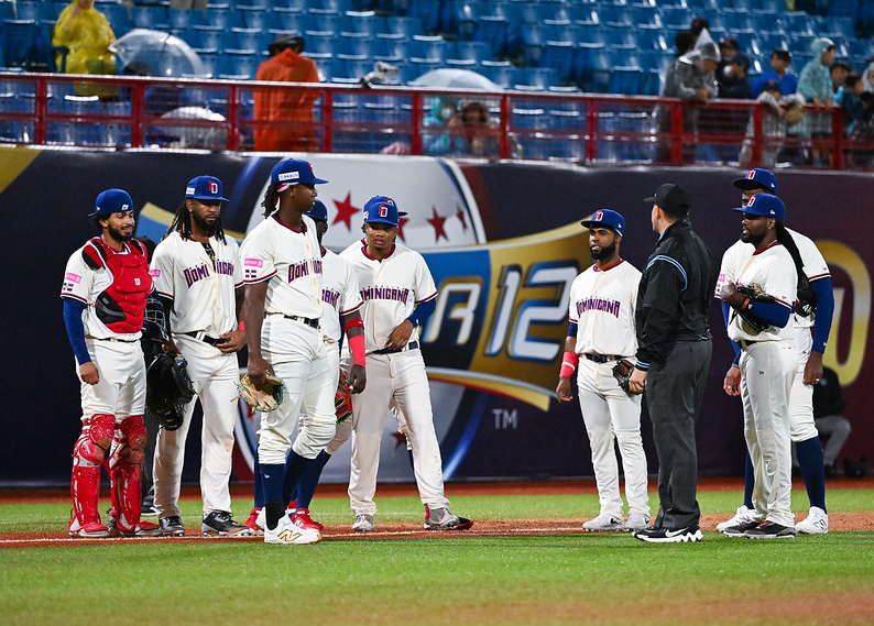
<svg viewBox="0 0 874 626">
<path fill-rule="evenodd" d="M 237 241 L 221 227 L 221 180 L 197 176 L 185 188 L 166 237 L 152 259 L 152 278 L 167 315 L 168 332 L 188 364 L 204 409 L 200 493 L 205 535 L 250 535 L 231 517 L 228 481 L 237 419 L 237 351 L 245 343 L 238 328 L 243 278 Z M 178 507 L 185 440 L 195 403 L 178 430 L 161 429 L 154 461 L 155 506 L 164 535 L 182 536 Z"/>
</svg>

